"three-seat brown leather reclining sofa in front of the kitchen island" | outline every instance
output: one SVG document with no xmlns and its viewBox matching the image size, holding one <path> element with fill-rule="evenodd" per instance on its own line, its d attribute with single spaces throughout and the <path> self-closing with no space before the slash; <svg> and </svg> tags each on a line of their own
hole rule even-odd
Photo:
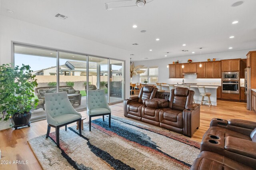
<svg viewBox="0 0 256 170">
<path fill-rule="evenodd" d="M 130 97 L 124 100 L 125 117 L 164 127 L 189 137 L 200 126 L 200 105 L 193 104 L 194 91 L 177 87 L 170 92 L 169 100 L 154 98 L 155 95 L 151 95 L 144 98 L 144 102 L 134 103 L 134 99 L 139 100 L 140 96 L 145 96 L 143 93 L 141 90 L 138 99 Z"/>
</svg>

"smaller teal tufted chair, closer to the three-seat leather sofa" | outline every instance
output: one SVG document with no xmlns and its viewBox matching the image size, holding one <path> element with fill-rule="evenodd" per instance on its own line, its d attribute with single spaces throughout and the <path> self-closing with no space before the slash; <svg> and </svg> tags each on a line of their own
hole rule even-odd
<svg viewBox="0 0 256 170">
<path fill-rule="evenodd" d="M 111 110 L 106 100 L 105 90 L 88 90 L 87 114 L 89 116 L 89 131 L 91 131 L 92 117 L 108 115 L 108 124 L 111 127 Z"/>
</svg>

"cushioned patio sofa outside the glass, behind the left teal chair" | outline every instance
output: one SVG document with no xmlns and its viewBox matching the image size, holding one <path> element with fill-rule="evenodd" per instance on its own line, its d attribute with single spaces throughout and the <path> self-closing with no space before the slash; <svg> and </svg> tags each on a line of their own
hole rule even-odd
<svg viewBox="0 0 256 170">
<path fill-rule="evenodd" d="M 81 98 L 82 95 L 80 94 L 79 90 L 75 90 L 72 86 L 60 86 L 60 91 L 59 92 L 63 92 L 66 91 L 68 94 L 68 99 L 70 101 L 70 103 L 74 104 L 78 104 L 81 105 Z M 56 86 L 47 86 L 47 87 L 37 87 L 35 88 L 35 95 L 37 95 L 38 100 L 42 99 L 43 102 L 41 102 L 40 104 L 38 104 L 38 107 L 41 107 L 40 105 L 42 105 L 42 108 L 44 109 L 44 95 L 47 93 L 56 93 L 57 92 L 57 87 Z"/>
</svg>

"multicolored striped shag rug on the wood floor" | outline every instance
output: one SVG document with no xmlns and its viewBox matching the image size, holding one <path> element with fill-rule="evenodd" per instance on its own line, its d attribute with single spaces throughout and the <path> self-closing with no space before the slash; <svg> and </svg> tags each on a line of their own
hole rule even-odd
<svg viewBox="0 0 256 170">
<path fill-rule="evenodd" d="M 55 132 L 29 140 L 45 170 L 81 169 L 189 169 L 200 153 L 200 143 L 164 130 L 112 116 L 92 121 L 92 131 L 84 124 L 82 136 L 76 126 L 60 130 L 60 146 Z"/>
</svg>

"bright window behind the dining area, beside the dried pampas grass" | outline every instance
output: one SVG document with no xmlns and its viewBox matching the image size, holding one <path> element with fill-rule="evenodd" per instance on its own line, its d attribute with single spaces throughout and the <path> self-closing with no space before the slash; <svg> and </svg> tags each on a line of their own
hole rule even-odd
<svg viewBox="0 0 256 170">
<path fill-rule="evenodd" d="M 158 82 L 158 67 L 144 67 L 141 70 L 145 70 L 144 73 L 140 74 L 140 82 L 143 83 L 144 80 L 149 80 L 148 83 Z"/>
</svg>

